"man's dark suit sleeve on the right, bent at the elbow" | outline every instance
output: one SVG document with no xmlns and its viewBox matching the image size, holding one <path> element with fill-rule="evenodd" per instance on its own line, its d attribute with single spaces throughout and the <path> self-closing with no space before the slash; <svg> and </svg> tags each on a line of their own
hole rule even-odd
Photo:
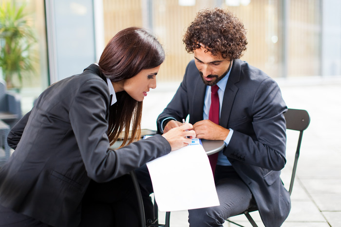
<svg viewBox="0 0 341 227">
<path fill-rule="evenodd" d="M 229 125 L 232 138 L 224 150 L 227 157 L 269 170 L 284 168 L 285 119 L 287 107 L 280 88 L 272 79 L 265 79 L 254 95 L 251 108 L 254 135 L 247 135 L 240 125 Z"/>
</svg>

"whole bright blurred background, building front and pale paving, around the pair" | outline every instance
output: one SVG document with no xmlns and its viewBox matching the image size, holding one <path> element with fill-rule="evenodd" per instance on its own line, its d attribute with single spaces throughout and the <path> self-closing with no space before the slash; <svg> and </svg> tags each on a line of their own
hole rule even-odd
<svg viewBox="0 0 341 227">
<path fill-rule="evenodd" d="M 340 0 L 0 0 L 0 79 L 20 97 L 25 114 L 50 84 L 97 62 L 118 31 L 148 28 L 167 54 L 143 104 L 142 128 L 155 130 L 193 58 L 182 42 L 185 30 L 199 10 L 212 7 L 228 8 L 244 22 L 248 44 L 241 59 L 278 82 L 289 108 L 311 117 L 283 226 L 340 227 Z M 284 185 L 296 146 L 290 135 Z M 172 217 L 173 227 L 186 226 L 187 211 Z"/>
</svg>

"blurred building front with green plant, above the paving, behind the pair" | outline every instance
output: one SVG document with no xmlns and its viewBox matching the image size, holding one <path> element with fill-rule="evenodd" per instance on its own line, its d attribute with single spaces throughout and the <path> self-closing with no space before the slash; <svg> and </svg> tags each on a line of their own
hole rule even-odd
<svg viewBox="0 0 341 227">
<path fill-rule="evenodd" d="M 196 12 L 211 7 L 242 19 L 248 45 L 241 59 L 271 77 L 341 75 L 340 0 L 0 0 L 0 7 L 2 58 L 8 40 L 19 34 L 21 45 L 18 69 L 5 69 L 2 59 L 0 73 L 20 94 L 23 114 L 44 88 L 98 61 L 106 43 L 130 26 L 158 37 L 167 52 L 158 82 L 178 85 L 192 59 L 182 37 Z"/>
</svg>

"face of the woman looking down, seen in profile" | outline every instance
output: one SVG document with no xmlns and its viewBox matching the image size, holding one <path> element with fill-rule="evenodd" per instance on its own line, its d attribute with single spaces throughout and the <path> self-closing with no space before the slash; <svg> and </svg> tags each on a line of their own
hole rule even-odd
<svg viewBox="0 0 341 227">
<path fill-rule="evenodd" d="M 123 82 L 123 89 L 136 101 L 143 101 L 147 96 L 147 92 L 150 88 L 156 87 L 156 74 L 159 71 L 160 66 L 141 70 L 132 78 L 126 79 Z"/>
</svg>

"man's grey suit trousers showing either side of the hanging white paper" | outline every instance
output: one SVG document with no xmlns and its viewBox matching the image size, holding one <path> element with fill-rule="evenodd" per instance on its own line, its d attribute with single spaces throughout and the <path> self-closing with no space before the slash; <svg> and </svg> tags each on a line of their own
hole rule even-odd
<svg viewBox="0 0 341 227">
<path fill-rule="evenodd" d="M 135 170 L 140 183 L 146 220 L 152 219 L 152 182 L 146 165 Z M 216 166 L 214 176 L 220 206 L 189 210 L 190 227 L 221 227 L 225 220 L 254 206 L 253 196 L 232 166 Z"/>
</svg>

